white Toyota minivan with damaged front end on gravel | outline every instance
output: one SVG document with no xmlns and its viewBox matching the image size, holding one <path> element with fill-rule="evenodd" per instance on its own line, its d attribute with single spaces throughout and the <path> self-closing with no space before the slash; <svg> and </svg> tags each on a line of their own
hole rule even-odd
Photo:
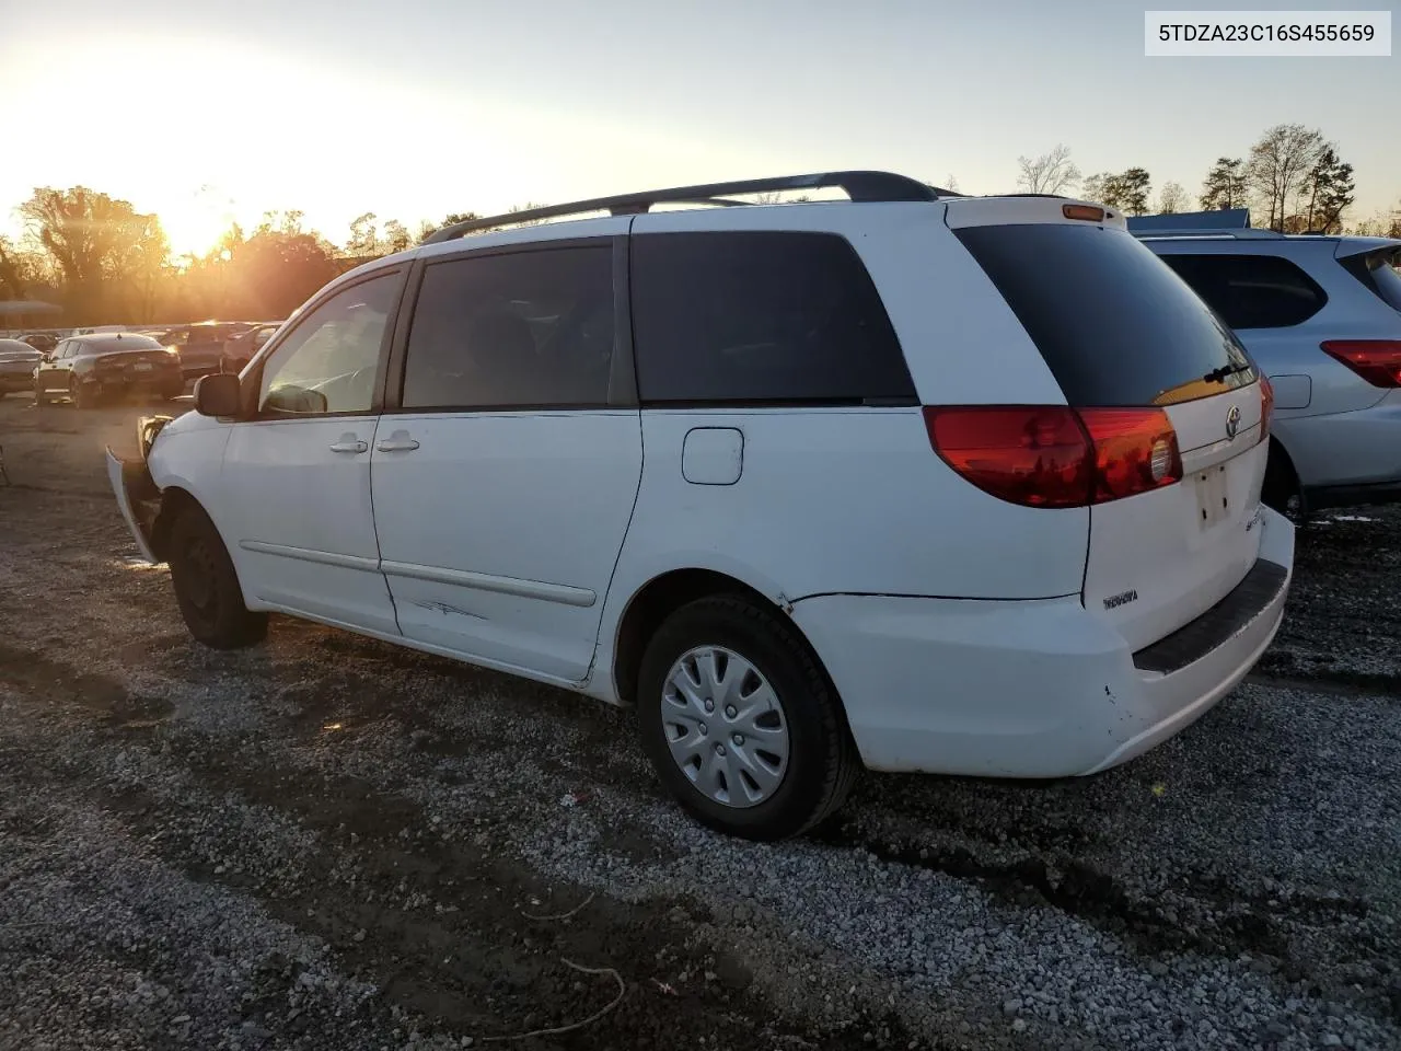
<svg viewBox="0 0 1401 1051">
<path fill-rule="evenodd" d="M 108 455 L 200 642 L 282 612 L 635 705 L 778 838 L 860 767 L 1094 774 L 1220 699 L 1293 565 L 1269 398 L 1117 212 L 829 172 L 448 227 Z"/>
</svg>

